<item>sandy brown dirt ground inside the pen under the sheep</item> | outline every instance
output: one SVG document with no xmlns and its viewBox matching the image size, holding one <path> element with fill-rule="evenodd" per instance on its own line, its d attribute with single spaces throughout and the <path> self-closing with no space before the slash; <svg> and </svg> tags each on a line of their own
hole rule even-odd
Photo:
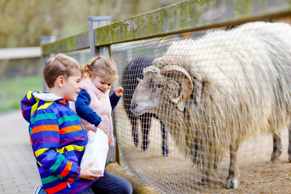
<svg viewBox="0 0 291 194">
<path fill-rule="evenodd" d="M 148 149 L 143 152 L 132 141 L 129 122 L 122 121 L 119 133 L 123 164 L 162 193 L 291 193 L 291 163 L 288 162 L 288 130 L 283 130 L 282 155 L 270 162 L 273 149 L 272 134 L 250 139 L 238 150 L 239 186 L 226 189 L 229 154 L 221 162 L 220 171 L 211 184 L 202 185 L 201 173 L 179 152 L 169 137 L 169 155 L 162 156 L 159 124 L 153 125 Z"/>
</svg>

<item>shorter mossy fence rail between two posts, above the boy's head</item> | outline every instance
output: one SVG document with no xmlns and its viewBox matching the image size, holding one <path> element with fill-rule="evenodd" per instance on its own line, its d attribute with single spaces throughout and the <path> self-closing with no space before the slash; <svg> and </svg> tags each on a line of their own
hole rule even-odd
<svg viewBox="0 0 291 194">
<path fill-rule="evenodd" d="M 86 49 L 89 48 L 89 31 L 87 30 L 53 43 L 41 45 L 41 47 L 43 55 Z"/>
</svg>

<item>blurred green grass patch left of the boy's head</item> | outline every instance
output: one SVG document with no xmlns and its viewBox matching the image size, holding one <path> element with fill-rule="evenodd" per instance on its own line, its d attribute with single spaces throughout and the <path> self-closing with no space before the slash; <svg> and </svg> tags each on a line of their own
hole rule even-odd
<svg viewBox="0 0 291 194">
<path fill-rule="evenodd" d="M 28 91 L 42 91 L 42 76 L 15 77 L 0 82 L 0 113 L 20 109 Z"/>
</svg>

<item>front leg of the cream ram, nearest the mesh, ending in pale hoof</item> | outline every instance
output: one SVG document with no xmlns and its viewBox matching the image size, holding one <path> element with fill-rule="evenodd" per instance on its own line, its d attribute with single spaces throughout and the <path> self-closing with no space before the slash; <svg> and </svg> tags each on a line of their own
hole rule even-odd
<svg viewBox="0 0 291 194">
<path fill-rule="evenodd" d="M 237 150 L 238 145 L 235 147 L 230 146 L 230 165 L 228 178 L 226 179 L 225 188 L 237 188 L 238 187 L 238 178 L 239 178 L 239 170 L 237 165 Z"/>
</svg>

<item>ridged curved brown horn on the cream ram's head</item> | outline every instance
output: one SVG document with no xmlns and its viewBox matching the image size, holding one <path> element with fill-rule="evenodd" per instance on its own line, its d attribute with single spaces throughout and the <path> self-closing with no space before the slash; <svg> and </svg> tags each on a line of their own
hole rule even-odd
<svg viewBox="0 0 291 194">
<path fill-rule="evenodd" d="M 181 80 L 181 95 L 171 99 L 172 103 L 178 104 L 189 97 L 193 90 L 193 83 L 187 70 L 177 65 L 166 65 L 161 68 L 160 72 L 165 76 L 171 76 L 177 80 Z"/>
</svg>

